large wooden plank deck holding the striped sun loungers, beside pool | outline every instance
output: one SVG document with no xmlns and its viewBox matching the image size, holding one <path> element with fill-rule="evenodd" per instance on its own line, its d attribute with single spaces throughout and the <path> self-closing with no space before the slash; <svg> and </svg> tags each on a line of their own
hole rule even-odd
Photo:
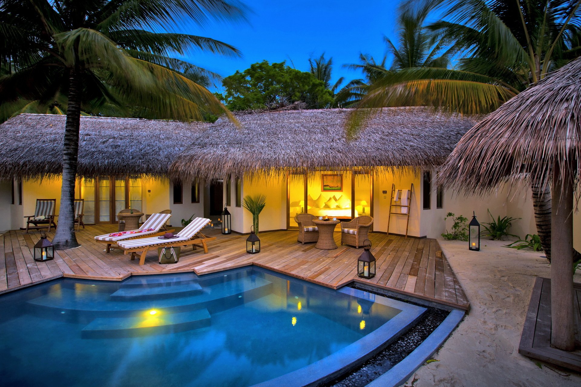
<svg viewBox="0 0 581 387">
<path fill-rule="evenodd" d="M 87 226 L 77 232 L 81 247 L 58 251 L 55 259 L 36 262 L 33 246 L 40 232 L 25 234 L 10 231 L 0 236 L 0 293 L 61 276 L 123 280 L 136 274 L 191 272 L 205 274 L 246 265 L 257 265 L 306 281 L 339 288 L 358 281 L 401 294 L 443 303 L 469 310 L 469 302 L 446 257 L 435 239 L 403 238 L 380 233 L 371 234 L 371 249 L 377 262 L 376 276 L 360 279 L 356 273 L 357 257 L 363 251 L 340 245 L 340 233 L 335 233 L 339 245 L 335 250 L 319 250 L 314 243 L 297 242 L 296 231 L 260 234 L 259 254 L 246 254 L 246 236 L 224 236 L 218 230 L 206 234 L 217 236 L 209 243 L 209 254 L 202 249 L 182 251 L 180 262 L 159 265 L 156 251 L 150 251 L 145 265 L 130 261 L 119 249 L 106 254 L 103 244 L 93 236 L 114 232 L 116 225 Z M 49 239 L 53 233 L 48 234 Z M 437 254 L 436 254 L 437 252 Z"/>
</svg>

